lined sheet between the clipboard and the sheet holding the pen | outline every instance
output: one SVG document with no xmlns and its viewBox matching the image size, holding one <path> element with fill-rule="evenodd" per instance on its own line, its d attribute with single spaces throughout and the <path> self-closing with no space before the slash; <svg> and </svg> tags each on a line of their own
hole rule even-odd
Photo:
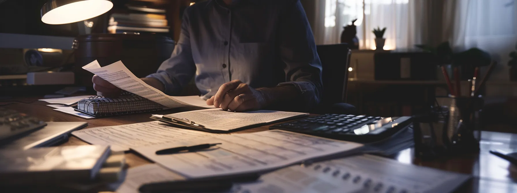
<svg viewBox="0 0 517 193">
<path fill-rule="evenodd" d="M 83 141 L 94 145 L 110 145 L 112 151 L 129 148 L 215 136 L 218 134 L 180 129 L 161 124 L 160 121 L 138 124 L 96 127 L 72 132 Z"/>
</svg>

